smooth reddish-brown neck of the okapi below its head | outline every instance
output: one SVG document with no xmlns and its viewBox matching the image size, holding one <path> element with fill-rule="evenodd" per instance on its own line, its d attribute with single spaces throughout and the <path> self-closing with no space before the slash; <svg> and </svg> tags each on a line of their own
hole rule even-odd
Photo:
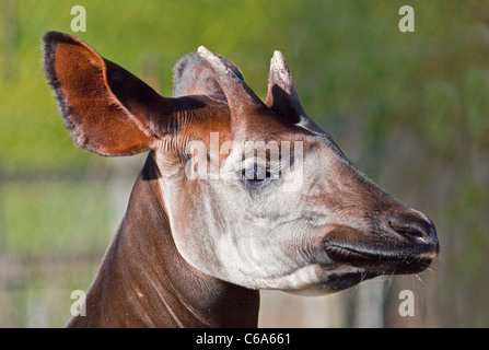
<svg viewBox="0 0 489 350">
<path fill-rule="evenodd" d="M 86 296 L 68 327 L 256 327 L 259 292 L 207 276 L 179 255 L 152 153 Z"/>
</svg>

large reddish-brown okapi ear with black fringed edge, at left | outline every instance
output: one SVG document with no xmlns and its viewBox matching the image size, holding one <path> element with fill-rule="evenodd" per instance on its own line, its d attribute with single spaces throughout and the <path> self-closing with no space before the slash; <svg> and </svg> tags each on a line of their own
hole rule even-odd
<svg viewBox="0 0 489 350">
<path fill-rule="evenodd" d="M 154 117 L 165 98 L 81 39 L 44 35 L 44 69 L 77 147 L 100 155 L 131 155 L 152 148 Z"/>
</svg>

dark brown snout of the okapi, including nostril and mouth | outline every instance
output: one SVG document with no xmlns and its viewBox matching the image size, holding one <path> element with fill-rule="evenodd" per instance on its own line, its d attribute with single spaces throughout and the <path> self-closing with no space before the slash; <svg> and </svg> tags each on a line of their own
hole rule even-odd
<svg viewBox="0 0 489 350">
<path fill-rule="evenodd" d="M 334 231 L 324 240 L 327 256 L 337 264 L 362 268 L 368 278 L 426 270 L 440 245 L 433 222 L 410 208 L 384 210 L 372 218 L 371 232 Z"/>
</svg>

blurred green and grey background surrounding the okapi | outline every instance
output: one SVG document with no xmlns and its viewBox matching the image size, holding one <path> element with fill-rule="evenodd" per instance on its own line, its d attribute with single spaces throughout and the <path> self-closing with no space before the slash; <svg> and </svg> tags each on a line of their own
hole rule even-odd
<svg viewBox="0 0 489 350">
<path fill-rule="evenodd" d="M 73 5 L 86 32 L 72 33 Z M 400 33 L 401 5 L 415 33 Z M 162 94 L 205 45 L 266 95 L 284 52 L 308 115 L 347 156 L 433 219 L 440 258 L 324 298 L 264 293 L 261 326 L 489 326 L 489 1 L 0 0 L 0 326 L 60 327 L 116 231 L 143 158 L 72 145 L 40 67 L 46 31 L 74 34 Z M 415 292 L 415 317 L 398 314 Z"/>
</svg>

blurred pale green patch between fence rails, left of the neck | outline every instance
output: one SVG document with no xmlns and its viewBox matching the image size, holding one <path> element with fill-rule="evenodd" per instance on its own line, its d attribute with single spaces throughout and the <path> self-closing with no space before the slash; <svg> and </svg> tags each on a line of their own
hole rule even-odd
<svg viewBox="0 0 489 350">
<path fill-rule="evenodd" d="M 103 187 L 93 183 L 33 183 L 15 184 L 3 188 L 3 224 L 9 230 L 2 235 L 2 245 L 14 255 L 65 254 L 67 252 L 97 250 L 105 236 L 96 233 L 107 226 L 106 206 L 101 200 Z M 22 196 L 19 196 L 22 194 Z M 77 221 L 73 222 L 73 213 Z M 56 218 L 56 230 L 53 228 Z M 59 235 L 59 231 L 70 235 Z M 98 238 L 97 238 L 98 237 Z"/>
</svg>

